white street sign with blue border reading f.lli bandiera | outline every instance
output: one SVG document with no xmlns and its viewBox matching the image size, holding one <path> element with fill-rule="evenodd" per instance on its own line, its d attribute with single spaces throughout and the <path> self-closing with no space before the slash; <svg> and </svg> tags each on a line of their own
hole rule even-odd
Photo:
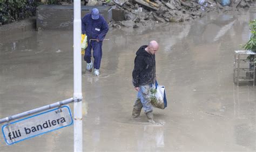
<svg viewBox="0 0 256 152">
<path fill-rule="evenodd" d="M 14 144 L 73 124 L 69 106 L 62 106 L 2 126 L 4 140 Z"/>
</svg>

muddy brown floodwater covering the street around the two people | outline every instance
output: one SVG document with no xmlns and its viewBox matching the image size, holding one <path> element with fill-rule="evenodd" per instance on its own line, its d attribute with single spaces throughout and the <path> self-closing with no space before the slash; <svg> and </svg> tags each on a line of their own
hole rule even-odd
<svg viewBox="0 0 256 152">
<path fill-rule="evenodd" d="M 255 151 L 255 88 L 233 84 L 233 53 L 249 38 L 256 9 L 191 23 L 112 29 L 100 76 L 83 62 L 84 151 Z M 0 38 L 0 118 L 73 96 L 72 31 L 24 32 Z M 157 79 L 168 106 L 132 119 L 135 53 L 157 40 Z M 73 104 L 70 104 L 73 109 Z M 73 126 L 0 151 L 73 151 Z"/>
</svg>

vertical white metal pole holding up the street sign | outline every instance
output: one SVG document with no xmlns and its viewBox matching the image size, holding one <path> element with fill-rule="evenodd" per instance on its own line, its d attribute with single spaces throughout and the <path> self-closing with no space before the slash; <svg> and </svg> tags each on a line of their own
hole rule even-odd
<svg viewBox="0 0 256 152">
<path fill-rule="evenodd" d="M 74 54 L 74 151 L 83 151 L 82 124 L 82 59 L 81 59 L 81 1 L 74 0 L 73 54 Z"/>
</svg>

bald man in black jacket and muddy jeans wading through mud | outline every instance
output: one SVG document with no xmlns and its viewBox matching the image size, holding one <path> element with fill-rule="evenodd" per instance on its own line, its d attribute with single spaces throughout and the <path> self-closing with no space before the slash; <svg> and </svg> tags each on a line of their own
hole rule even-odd
<svg viewBox="0 0 256 152">
<path fill-rule="evenodd" d="M 154 124 L 153 107 L 150 102 L 151 88 L 154 88 L 156 81 L 156 60 L 154 54 L 159 49 L 156 41 L 151 41 L 149 45 L 141 46 L 136 52 L 134 69 L 132 71 L 132 83 L 134 89 L 138 91 L 137 100 L 134 103 L 132 117 L 137 118 L 142 108 L 145 111 L 149 122 Z"/>
</svg>

